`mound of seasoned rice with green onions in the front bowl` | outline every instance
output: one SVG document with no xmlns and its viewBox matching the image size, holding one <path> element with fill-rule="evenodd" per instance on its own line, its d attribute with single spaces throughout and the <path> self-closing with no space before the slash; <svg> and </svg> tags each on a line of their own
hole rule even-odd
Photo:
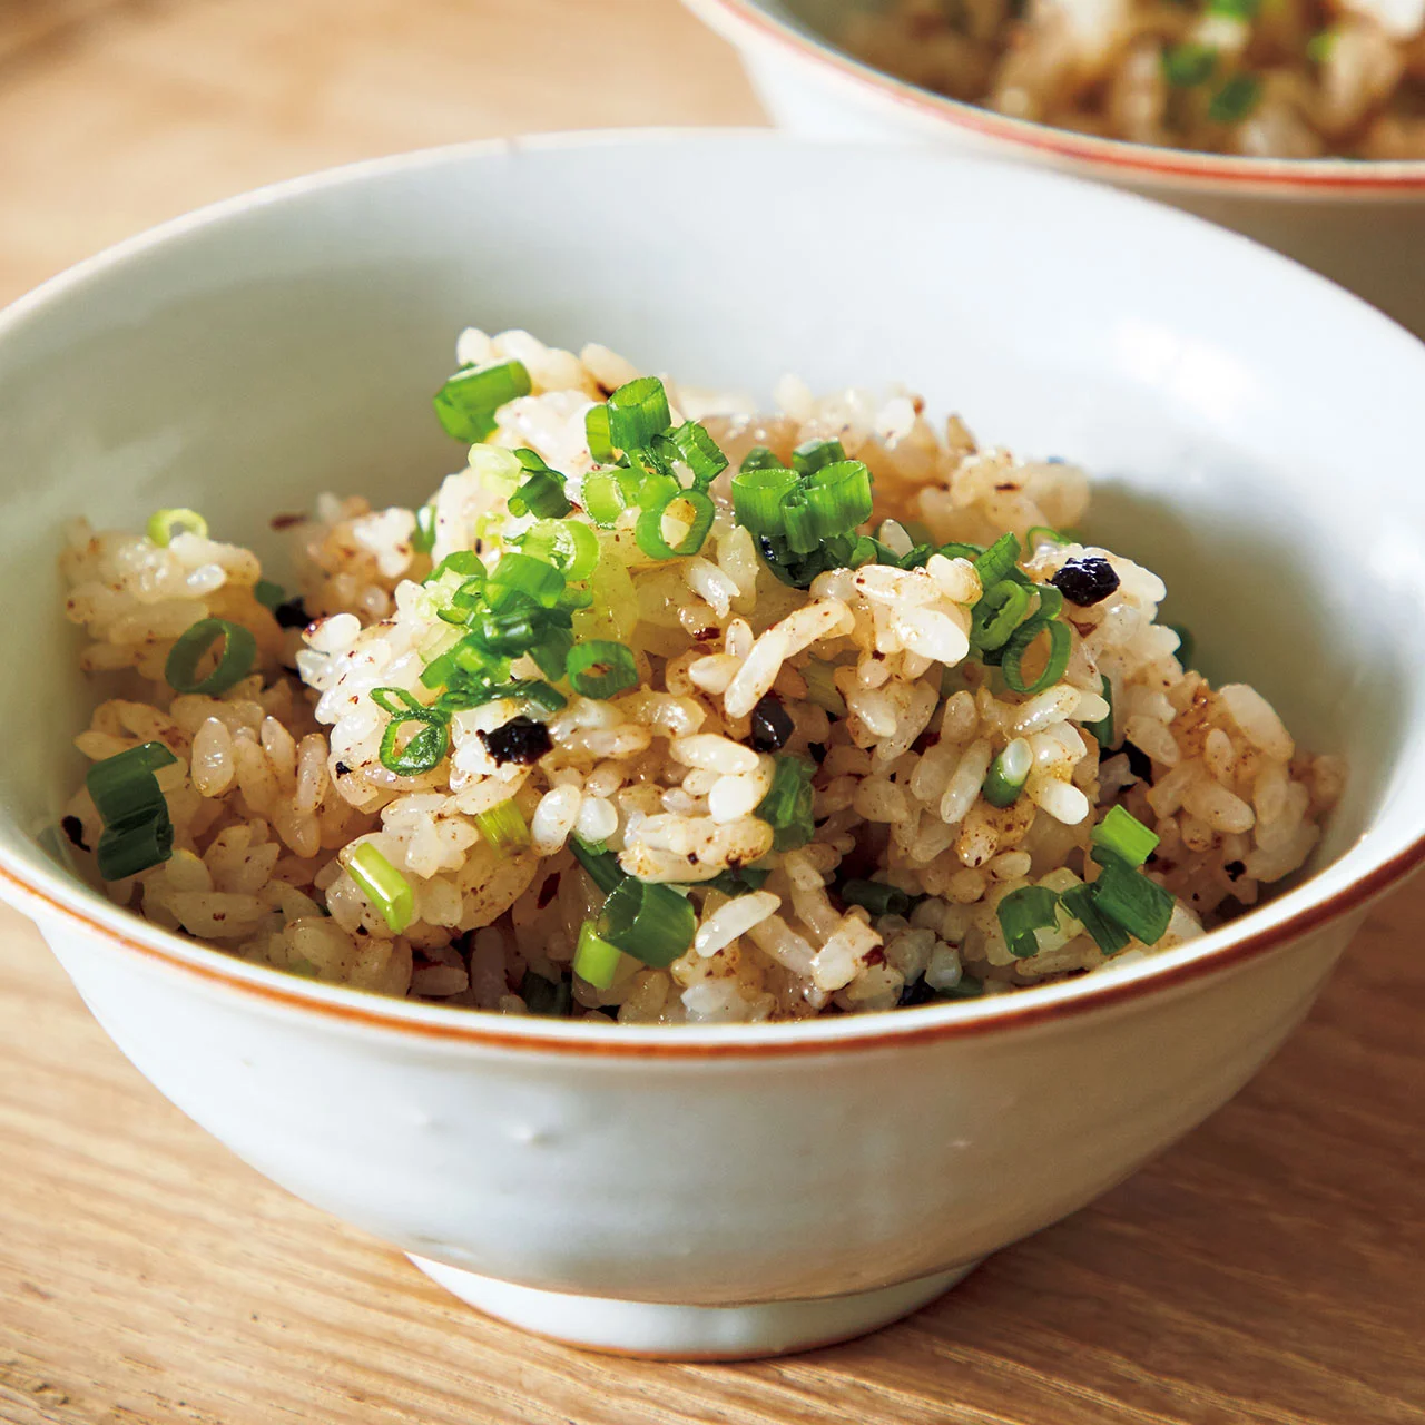
<svg viewBox="0 0 1425 1425">
<path fill-rule="evenodd" d="M 120 905 L 385 995 L 740 1022 L 1121 963 L 1310 854 L 1340 764 L 1184 665 L 1074 466 L 906 392 L 459 361 L 469 465 L 278 514 L 295 596 L 194 512 L 74 530 L 110 695 L 63 829 Z"/>
</svg>

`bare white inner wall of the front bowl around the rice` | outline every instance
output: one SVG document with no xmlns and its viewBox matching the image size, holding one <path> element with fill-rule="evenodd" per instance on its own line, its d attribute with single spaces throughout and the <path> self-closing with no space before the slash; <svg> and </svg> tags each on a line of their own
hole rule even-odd
<svg viewBox="0 0 1425 1425">
<path fill-rule="evenodd" d="M 643 182 L 695 198 L 628 202 Z M 903 380 L 988 442 L 1087 465 L 1090 536 L 1164 576 L 1204 670 L 1349 760 L 1318 866 L 1369 831 L 1332 868 L 1348 879 L 1415 838 L 1425 348 L 1139 200 L 708 134 L 482 145 L 285 185 L 0 318 L 0 859 L 64 884 L 37 838 L 81 775 L 70 737 L 93 701 L 61 616 L 64 522 L 187 504 L 275 554 L 271 517 L 321 490 L 418 502 L 462 462 L 430 393 L 467 323 L 601 341 L 764 398 L 787 370 Z"/>
</svg>

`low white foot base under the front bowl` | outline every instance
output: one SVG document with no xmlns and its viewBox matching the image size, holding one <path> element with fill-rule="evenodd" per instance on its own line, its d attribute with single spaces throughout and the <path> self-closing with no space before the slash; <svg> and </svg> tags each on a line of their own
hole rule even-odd
<svg viewBox="0 0 1425 1425">
<path fill-rule="evenodd" d="M 523 1331 L 587 1351 L 673 1361 L 737 1361 L 849 1341 L 909 1315 L 979 1265 L 972 1261 L 933 1277 L 846 1297 L 677 1307 L 537 1291 L 415 1254 L 410 1260 L 462 1301 Z"/>
</svg>

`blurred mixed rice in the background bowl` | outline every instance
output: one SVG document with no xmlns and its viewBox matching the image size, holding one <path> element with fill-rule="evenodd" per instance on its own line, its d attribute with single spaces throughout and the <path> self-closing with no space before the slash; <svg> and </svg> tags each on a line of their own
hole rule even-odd
<svg viewBox="0 0 1425 1425">
<path fill-rule="evenodd" d="M 1425 158 L 1425 0 L 892 0 L 844 43 L 950 98 L 1253 158 Z"/>
</svg>

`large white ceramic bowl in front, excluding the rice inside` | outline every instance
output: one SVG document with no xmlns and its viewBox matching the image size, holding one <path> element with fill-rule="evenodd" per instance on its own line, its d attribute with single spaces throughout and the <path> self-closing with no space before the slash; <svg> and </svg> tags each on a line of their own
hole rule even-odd
<svg viewBox="0 0 1425 1425">
<path fill-rule="evenodd" d="M 1093 529 L 1167 576 L 1210 671 L 1349 758 L 1321 869 L 1141 965 L 797 1026 L 385 1000 L 114 909 L 36 839 L 80 775 L 90 695 L 61 522 L 192 504 L 265 547 L 268 516 L 321 489 L 420 497 L 459 462 L 429 396 L 466 322 L 764 395 L 788 368 L 901 376 L 1086 460 Z M 0 891 L 164 1094 L 466 1300 L 678 1355 L 869 1330 L 1235 1093 L 1425 854 L 1422 398 L 1425 348 L 1248 242 L 925 151 L 537 140 L 222 204 L 0 318 Z"/>
</svg>

